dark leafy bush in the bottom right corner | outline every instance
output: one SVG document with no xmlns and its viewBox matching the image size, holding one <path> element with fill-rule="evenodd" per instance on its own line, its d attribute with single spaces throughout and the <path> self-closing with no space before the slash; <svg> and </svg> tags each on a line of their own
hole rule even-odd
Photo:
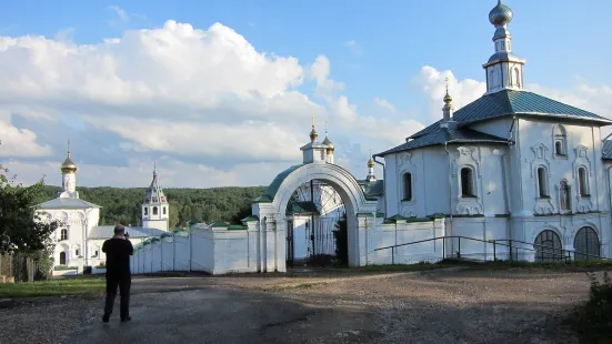
<svg viewBox="0 0 612 344">
<path fill-rule="evenodd" d="M 603 272 L 603 281 L 589 274 L 589 301 L 579 305 L 568 322 L 580 336 L 581 343 L 612 342 L 612 279 Z"/>
</svg>

